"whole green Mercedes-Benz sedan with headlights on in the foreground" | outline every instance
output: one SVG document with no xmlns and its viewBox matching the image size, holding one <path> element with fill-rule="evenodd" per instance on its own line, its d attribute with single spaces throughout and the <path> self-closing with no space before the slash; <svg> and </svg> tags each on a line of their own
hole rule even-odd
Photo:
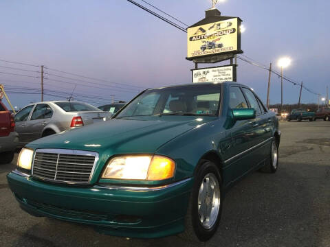
<svg viewBox="0 0 330 247">
<path fill-rule="evenodd" d="M 206 241 L 234 183 L 276 172 L 280 137 L 276 116 L 248 86 L 148 89 L 110 121 L 26 145 L 8 183 L 32 215 L 109 235 Z"/>
</svg>

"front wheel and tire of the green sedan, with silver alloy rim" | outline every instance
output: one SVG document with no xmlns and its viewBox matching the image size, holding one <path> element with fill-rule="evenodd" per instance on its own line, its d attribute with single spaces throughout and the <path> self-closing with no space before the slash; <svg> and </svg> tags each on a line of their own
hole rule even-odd
<svg viewBox="0 0 330 247">
<path fill-rule="evenodd" d="M 222 180 L 217 166 L 203 160 L 195 175 L 186 214 L 184 239 L 206 242 L 216 233 L 222 212 Z"/>
</svg>

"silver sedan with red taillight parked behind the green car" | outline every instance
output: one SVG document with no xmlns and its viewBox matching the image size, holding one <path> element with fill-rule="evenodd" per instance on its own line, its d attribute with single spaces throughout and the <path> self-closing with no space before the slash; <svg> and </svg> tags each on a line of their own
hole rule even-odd
<svg viewBox="0 0 330 247">
<path fill-rule="evenodd" d="M 109 119 L 109 114 L 83 102 L 53 101 L 25 106 L 15 115 L 19 145 Z"/>
</svg>

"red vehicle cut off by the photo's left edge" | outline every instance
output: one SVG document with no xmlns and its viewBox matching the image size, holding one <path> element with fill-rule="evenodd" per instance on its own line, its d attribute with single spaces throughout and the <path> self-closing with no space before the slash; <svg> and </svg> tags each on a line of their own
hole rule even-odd
<svg viewBox="0 0 330 247">
<path fill-rule="evenodd" d="M 14 131 L 12 113 L 0 102 L 0 164 L 12 162 L 14 151 L 19 143 L 19 134 Z"/>
</svg>

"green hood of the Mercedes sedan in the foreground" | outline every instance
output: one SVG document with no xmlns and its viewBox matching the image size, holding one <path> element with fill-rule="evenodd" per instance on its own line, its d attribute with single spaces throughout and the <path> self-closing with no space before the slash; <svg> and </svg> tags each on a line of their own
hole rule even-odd
<svg viewBox="0 0 330 247">
<path fill-rule="evenodd" d="M 113 154 L 154 153 L 175 137 L 215 117 L 135 117 L 111 119 L 33 141 L 27 147 L 89 150 Z"/>
</svg>

